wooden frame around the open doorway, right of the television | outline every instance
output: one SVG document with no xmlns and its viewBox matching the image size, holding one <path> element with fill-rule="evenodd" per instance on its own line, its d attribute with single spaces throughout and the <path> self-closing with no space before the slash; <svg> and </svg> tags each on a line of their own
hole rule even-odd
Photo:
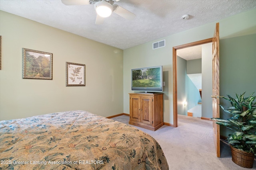
<svg viewBox="0 0 256 170">
<path fill-rule="evenodd" d="M 178 45 L 175 47 L 172 47 L 172 92 L 173 92 L 173 127 L 178 127 L 178 101 L 177 101 L 177 53 L 176 51 L 178 49 L 184 49 L 187 47 L 193 47 L 196 45 L 202 45 L 206 43 L 212 43 L 212 38 L 203 39 L 200 41 L 184 44 L 184 45 Z"/>
</svg>

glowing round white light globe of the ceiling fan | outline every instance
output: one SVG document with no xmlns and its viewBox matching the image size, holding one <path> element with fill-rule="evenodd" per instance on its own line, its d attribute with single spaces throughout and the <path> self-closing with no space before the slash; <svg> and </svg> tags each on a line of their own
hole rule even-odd
<svg viewBox="0 0 256 170">
<path fill-rule="evenodd" d="M 97 2 L 94 8 L 97 14 L 103 18 L 109 17 L 114 10 L 113 6 L 105 1 Z"/>
</svg>

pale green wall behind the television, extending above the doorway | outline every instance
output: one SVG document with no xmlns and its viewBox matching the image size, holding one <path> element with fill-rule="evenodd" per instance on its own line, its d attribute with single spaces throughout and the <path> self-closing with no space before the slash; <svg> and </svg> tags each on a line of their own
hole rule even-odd
<svg viewBox="0 0 256 170">
<path fill-rule="evenodd" d="M 164 81 L 164 122 L 173 123 L 172 92 L 172 47 L 208 39 L 213 36 L 216 22 L 220 22 L 220 39 L 256 33 L 256 9 L 220 21 L 208 23 L 124 50 L 124 113 L 129 113 L 131 91 L 131 69 L 144 66 L 163 65 Z M 189 21 L 189 20 L 188 20 Z M 192 20 L 191 20 L 192 21 Z M 171 27 L 171 25 L 170 25 Z M 152 43 L 166 39 L 166 47 L 152 50 Z M 202 115 L 204 116 L 204 115 Z"/>
</svg>

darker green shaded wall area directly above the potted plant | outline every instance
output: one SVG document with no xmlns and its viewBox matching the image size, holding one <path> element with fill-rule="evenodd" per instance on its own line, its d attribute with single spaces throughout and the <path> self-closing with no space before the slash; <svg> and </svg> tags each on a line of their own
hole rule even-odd
<svg viewBox="0 0 256 170">
<path fill-rule="evenodd" d="M 220 95 L 235 96 L 246 92 L 256 95 L 256 34 L 220 39 Z M 220 99 L 224 107 L 230 103 Z M 220 117 L 230 116 L 220 110 Z M 221 127 L 221 135 L 228 136 L 228 129 Z"/>
</svg>

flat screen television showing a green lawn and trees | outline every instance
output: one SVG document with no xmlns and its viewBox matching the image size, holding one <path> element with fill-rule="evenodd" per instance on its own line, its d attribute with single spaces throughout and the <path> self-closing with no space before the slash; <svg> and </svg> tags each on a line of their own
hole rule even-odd
<svg viewBox="0 0 256 170">
<path fill-rule="evenodd" d="M 132 90 L 162 92 L 163 66 L 132 69 Z"/>
</svg>

